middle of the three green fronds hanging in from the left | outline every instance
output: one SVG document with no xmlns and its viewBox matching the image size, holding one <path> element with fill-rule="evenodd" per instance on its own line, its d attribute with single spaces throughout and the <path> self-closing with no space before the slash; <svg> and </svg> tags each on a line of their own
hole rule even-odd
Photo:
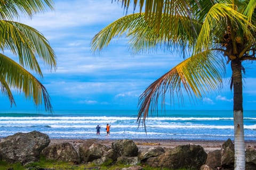
<svg viewBox="0 0 256 170">
<path fill-rule="evenodd" d="M 42 33 L 28 25 L 4 20 L 0 20 L 0 32 L 0 48 L 18 55 L 22 66 L 42 75 L 36 60 L 40 57 L 50 69 L 55 69 L 55 54 Z"/>
</svg>

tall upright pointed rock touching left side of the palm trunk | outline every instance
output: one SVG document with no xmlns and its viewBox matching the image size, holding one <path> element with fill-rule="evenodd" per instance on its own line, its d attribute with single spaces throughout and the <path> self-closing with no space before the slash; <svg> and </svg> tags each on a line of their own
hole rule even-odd
<svg viewBox="0 0 256 170">
<path fill-rule="evenodd" d="M 230 139 L 222 144 L 220 154 L 222 167 L 233 169 L 235 163 L 235 146 Z"/>
</svg>

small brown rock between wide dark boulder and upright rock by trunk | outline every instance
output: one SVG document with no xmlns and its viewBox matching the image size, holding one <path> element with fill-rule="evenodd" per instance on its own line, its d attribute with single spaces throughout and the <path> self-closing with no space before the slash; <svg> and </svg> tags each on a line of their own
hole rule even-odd
<svg viewBox="0 0 256 170">
<path fill-rule="evenodd" d="M 212 169 L 215 169 L 215 167 L 221 166 L 221 155 L 220 150 L 214 150 L 207 154 L 207 159 L 205 164 Z"/>
</svg>

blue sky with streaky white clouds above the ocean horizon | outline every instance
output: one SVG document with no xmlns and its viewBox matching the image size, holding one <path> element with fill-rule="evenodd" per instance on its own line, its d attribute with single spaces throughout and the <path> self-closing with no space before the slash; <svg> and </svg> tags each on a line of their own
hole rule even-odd
<svg viewBox="0 0 256 170">
<path fill-rule="evenodd" d="M 129 11 L 128 13 L 131 13 Z M 21 17 L 25 23 L 49 41 L 57 56 L 57 70 L 42 65 L 38 78 L 51 96 L 53 110 L 61 109 L 138 109 L 140 94 L 157 78 L 171 70 L 183 58 L 170 52 L 132 55 L 127 39 L 114 39 L 102 52 L 93 53 L 93 36 L 111 22 L 125 16 L 121 3 L 111 0 L 54 0 L 54 11 Z M 14 57 L 17 58 L 17 57 Z M 255 63 L 246 63 L 244 109 L 255 109 Z M 230 69 L 223 88 L 196 101 L 166 103 L 166 109 L 233 109 L 229 89 Z M 14 92 L 16 106 L 0 96 L 2 110 L 43 110 L 19 92 Z"/>
</svg>

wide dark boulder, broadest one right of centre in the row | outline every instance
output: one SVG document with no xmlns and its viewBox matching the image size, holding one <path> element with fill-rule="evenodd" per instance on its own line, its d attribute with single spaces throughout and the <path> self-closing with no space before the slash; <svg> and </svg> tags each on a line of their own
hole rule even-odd
<svg viewBox="0 0 256 170">
<path fill-rule="evenodd" d="M 158 157 L 147 159 L 147 164 L 152 167 L 166 167 L 170 169 L 199 169 L 205 164 L 207 154 L 199 145 L 181 145 L 171 150 L 166 150 Z"/>
</svg>

